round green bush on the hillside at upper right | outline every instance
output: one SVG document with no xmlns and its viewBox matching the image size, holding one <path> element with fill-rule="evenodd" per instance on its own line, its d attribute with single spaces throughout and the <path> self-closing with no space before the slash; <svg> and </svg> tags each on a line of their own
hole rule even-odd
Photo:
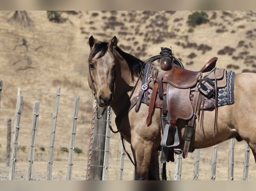
<svg viewBox="0 0 256 191">
<path fill-rule="evenodd" d="M 196 11 L 188 15 L 187 24 L 189 26 L 195 27 L 196 25 L 207 23 L 209 21 L 207 18 L 208 14 L 205 11 Z"/>
</svg>

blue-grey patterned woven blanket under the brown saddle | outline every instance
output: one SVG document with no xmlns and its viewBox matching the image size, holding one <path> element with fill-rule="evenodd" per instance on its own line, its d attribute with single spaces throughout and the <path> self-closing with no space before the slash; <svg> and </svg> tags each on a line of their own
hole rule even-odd
<svg viewBox="0 0 256 191">
<path fill-rule="evenodd" d="M 146 63 L 143 71 L 142 85 L 145 84 L 147 79 L 150 77 L 150 74 L 152 73 L 152 68 L 154 66 L 155 66 L 154 63 L 150 63 L 150 62 Z M 218 106 L 230 105 L 235 102 L 235 98 L 234 98 L 235 72 L 228 71 L 226 77 L 227 77 L 227 86 L 225 88 L 218 89 Z M 141 102 L 149 105 L 151 93 L 152 93 L 152 90 L 150 88 L 147 91 L 145 91 Z M 190 99 L 192 99 L 193 96 L 194 96 L 194 93 L 191 92 Z M 215 102 L 215 98 L 211 98 L 211 100 Z M 156 97 L 155 107 L 162 108 L 162 100 L 160 100 L 158 94 Z"/>
</svg>

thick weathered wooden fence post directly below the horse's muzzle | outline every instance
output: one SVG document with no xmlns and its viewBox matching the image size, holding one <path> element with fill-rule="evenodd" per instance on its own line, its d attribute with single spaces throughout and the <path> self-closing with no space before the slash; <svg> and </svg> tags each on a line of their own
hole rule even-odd
<svg viewBox="0 0 256 191">
<path fill-rule="evenodd" d="M 95 110 L 97 108 L 96 105 L 97 103 L 95 103 Z M 101 114 L 103 110 L 104 108 L 99 107 L 96 112 Z M 87 180 L 102 180 L 107 112 L 104 112 L 100 119 L 95 118 L 94 115 L 93 121 Z"/>
</svg>

